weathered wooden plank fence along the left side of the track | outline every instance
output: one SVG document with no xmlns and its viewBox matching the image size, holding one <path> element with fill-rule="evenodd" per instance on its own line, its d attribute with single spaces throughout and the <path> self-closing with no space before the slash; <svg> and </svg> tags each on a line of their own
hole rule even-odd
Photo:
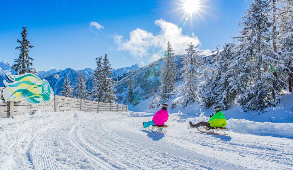
<svg viewBox="0 0 293 170">
<path fill-rule="evenodd" d="M 0 94 L 2 94 L 2 89 L 3 87 L 0 87 Z M 54 96 L 54 101 L 50 103 L 43 102 L 38 105 L 31 105 L 28 104 L 26 101 L 5 102 L 3 96 L 1 95 L 0 118 L 14 117 L 17 115 L 21 115 L 23 112 L 33 112 L 37 109 L 46 111 L 81 110 L 86 112 L 128 112 L 127 105 L 102 103 L 58 95 Z"/>
</svg>

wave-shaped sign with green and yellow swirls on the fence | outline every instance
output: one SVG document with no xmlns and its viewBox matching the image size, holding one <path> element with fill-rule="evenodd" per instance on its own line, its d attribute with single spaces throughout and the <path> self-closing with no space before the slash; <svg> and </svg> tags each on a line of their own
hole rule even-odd
<svg viewBox="0 0 293 170">
<path fill-rule="evenodd" d="M 44 102 L 51 102 L 54 99 L 53 89 L 47 80 L 41 80 L 32 73 L 21 75 L 6 74 L 8 80 L 13 81 L 7 83 L 3 81 L 5 88 L 2 95 L 5 101 L 22 101 L 35 105 Z"/>
</svg>

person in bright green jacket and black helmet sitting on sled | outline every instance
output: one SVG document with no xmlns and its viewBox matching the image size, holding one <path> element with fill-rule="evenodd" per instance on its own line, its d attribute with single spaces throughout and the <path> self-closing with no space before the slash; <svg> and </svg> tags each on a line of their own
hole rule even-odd
<svg viewBox="0 0 293 170">
<path fill-rule="evenodd" d="M 189 122 L 190 128 L 200 126 L 206 126 L 208 128 L 226 126 L 226 118 L 222 112 L 222 108 L 220 106 L 215 106 L 214 111 L 215 114 L 210 115 L 209 122 L 199 122 L 197 124 L 192 124 L 191 122 Z"/>
</svg>

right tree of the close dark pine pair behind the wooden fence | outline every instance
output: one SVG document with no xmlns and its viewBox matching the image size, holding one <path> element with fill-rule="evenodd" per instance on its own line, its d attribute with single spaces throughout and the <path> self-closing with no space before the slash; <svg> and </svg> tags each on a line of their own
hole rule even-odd
<svg viewBox="0 0 293 170">
<path fill-rule="evenodd" d="M 109 77 L 112 74 L 111 72 L 111 64 L 107 58 L 107 54 L 103 58 L 103 79 L 102 79 L 102 91 L 101 91 L 101 102 L 106 103 L 116 103 L 115 100 L 115 89 L 113 86 L 112 77 Z"/>
</svg>

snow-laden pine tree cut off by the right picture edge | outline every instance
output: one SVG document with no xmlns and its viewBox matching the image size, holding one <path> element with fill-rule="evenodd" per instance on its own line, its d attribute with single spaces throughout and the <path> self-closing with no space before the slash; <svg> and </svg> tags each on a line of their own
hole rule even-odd
<svg viewBox="0 0 293 170">
<path fill-rule="evenodd" d="M 283 70 L 283 77 L 286 79 L 289 92 L 293 88 L 293 1 L 284 0 L 278 9 L 278 31 L 279 41 L 278 52 L 285 62 L 287 69 Z"/>
</svg>

